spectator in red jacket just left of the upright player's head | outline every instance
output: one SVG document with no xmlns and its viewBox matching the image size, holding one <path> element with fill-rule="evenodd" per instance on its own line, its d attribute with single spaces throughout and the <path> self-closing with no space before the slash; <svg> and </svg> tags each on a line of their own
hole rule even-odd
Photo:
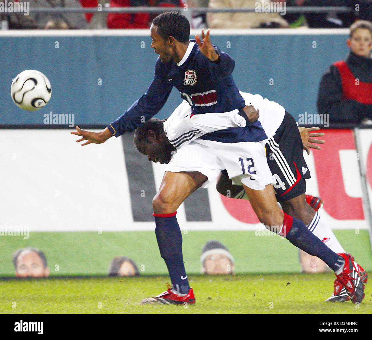
<svg viewBox="0 0 372 340">
<path fill-rule="evenodd" d="M 110 7 L 182 7 L 181 0 L 110 0 Z M 150 28 L 158 13 L 109 13 L 107 28 Z"/>
</svg>

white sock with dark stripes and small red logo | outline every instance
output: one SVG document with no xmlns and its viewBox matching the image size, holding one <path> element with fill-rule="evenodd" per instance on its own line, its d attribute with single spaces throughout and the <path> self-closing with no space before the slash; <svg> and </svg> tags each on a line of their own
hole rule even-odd
<svg viewBox="0 0 372 340">
<path fill-rule="evenodd" d="M 344 248 L 333 234 L 327 219 L 322 217 L 319 212 L 315 212 L 315 216 L 308 224 L 307 228 L 336 254 L 345 253 Z"/>
</svg>

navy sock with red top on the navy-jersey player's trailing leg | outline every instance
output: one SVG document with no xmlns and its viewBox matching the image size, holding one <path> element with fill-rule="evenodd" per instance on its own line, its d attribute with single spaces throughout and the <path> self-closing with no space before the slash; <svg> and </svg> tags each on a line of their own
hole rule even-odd
<svg viewBox="0 0 372 340">
<path fill-rule="evenodd" d="M 332 270 L 338 271 L 344 264 L 343 258 L 330 250 L 299 219 L 284 213 L 283 228 L 279 235 L 294 246 L 323 260 Z"/>
</svg>

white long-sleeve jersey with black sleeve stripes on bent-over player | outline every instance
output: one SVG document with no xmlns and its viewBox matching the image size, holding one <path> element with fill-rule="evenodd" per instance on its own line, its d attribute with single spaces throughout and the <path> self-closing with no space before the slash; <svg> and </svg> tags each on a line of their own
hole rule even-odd
<svg viewBox="0 0 372 340">
<path fill-rule="evenodd" d="M 246 105 L 252 105 L 260 111 L 259 121 L 268 138 L 275 135 L 283 121 L 285 109 L 276 102 L 263 98 L 259 94 L 240 92 Z M 238 110 L 223 113 L 203 113 L 192 115 L 191 107 L 182 102 L 164 122 L 164 132 L 175 148 L 188 144 L 194 139 L 227 128 L 244 127 L 246 120 L 238 114 Z M 266 142 L 266 141 L 265 141 Z"/>
</svg>

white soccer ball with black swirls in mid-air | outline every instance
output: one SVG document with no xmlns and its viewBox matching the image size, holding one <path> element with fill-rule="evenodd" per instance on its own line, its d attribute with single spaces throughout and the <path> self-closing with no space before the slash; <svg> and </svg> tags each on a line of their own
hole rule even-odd
<svg viewBox="0 0 372 340">
<path fill-rule="evenodd" d="M 14 78 L 10 94 L 19 108 L 35 111 L 47 105 L 52 89 L 44 74 L 36 70 L 26 70 Z"/>
</svg>

